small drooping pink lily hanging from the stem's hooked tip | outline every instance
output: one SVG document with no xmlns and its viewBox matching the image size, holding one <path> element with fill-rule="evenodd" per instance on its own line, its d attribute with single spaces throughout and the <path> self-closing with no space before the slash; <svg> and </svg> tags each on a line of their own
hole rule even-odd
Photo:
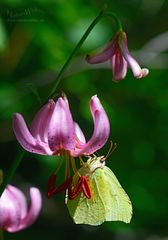
<svg viewBox="0 0 168 240">
<path fill-rule="evenodd" d="M 90 64 L 103 63 L 107 60 L 110 60 L 112 64 L 114 82 L 125 78 L 128 67 L 131 68 L 134 77 L 137 79 L 146 77 L 149 73 L 149 70 L 141 68 L 130 54 L 127 46 L 127 36 L 123 31 L 117 32 L 107 47 L 99 54 L 86 56 L 86 61 Z"/>
</svg>

